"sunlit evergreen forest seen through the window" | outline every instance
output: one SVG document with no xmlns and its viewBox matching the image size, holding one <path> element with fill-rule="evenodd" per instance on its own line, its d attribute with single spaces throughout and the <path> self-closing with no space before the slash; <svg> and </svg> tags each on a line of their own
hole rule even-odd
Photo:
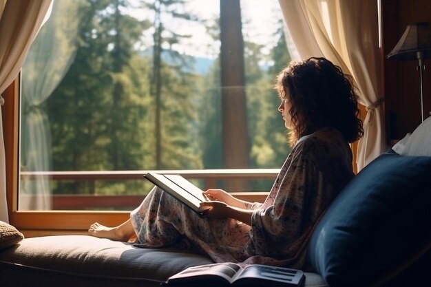
<svg viewBox="0 0 431 287">
<path fill-rule="evenodd" d="M 54 6 L 65 1 L 75 2 L 57 0 Z M 196 58 L 174 49 L 187 35 L 163 22 L 169 14 L 169 19 L 202 25 L 217 43 L 220 19 L 209 21 L 183 12 L 180 7 L 186 2 L 75 2 L 80 6 L 74 19 L 78 27 L 74 61 L 39 107 L 49 119 L 52 171 L 225 168 L 222 129 L 229 127 L 222 125 L 220 56 L 207 61 L 211 65 L 206 72 L 197 71 Z M 152 18 L 127 13 L 137 8 L 150 10 Z M 246 129 L 248 166 L 242 168 L 280 167 L 290 149 L 273 88 L 276 74 L 290 59 L 279 18 L 280 28 L 271 31 L 278 41 L 269 56 L 262 52 L 264 45 L 244 37 L 246 119 L 239 124 Z M 145 51 L 144 32 L 153 35 L 153 45 Z M 122 194 L 140 189 L 141 184 L 132 182 L 97 187 L 57 182 L 52 192 Z"/>
</svg>

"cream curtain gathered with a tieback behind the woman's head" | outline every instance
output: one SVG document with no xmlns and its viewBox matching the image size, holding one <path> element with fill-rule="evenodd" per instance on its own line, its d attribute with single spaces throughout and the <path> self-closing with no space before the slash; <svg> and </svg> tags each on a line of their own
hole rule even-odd
<svg viewBox="0 0 431 287">
<path fill-rule="evenodd" d="M 379 21 L 375 0 L 279 0 L 299 56 L 324 56 L 347 74 L 366 106 L 358 171 L 387 149 L 380 87 Z"/>
</svg>

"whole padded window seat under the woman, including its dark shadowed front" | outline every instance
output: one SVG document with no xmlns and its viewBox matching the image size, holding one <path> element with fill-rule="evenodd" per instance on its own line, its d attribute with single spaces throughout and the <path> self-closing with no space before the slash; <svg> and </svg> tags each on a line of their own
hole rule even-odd
<svg viewBox="0 0 431 287">
<path fill-rule="evenodd" d="M 189 266 L 211 263 L 209 257 L 186 251 L 138 248 L 88 235 L 57 235 L 25 238 L 0 251 L 0 278 L 5 286 L 15 287 L 155 287 Z M 317 273 L 306 273 L 305 286 L 327 285 Z"/>
</svg>

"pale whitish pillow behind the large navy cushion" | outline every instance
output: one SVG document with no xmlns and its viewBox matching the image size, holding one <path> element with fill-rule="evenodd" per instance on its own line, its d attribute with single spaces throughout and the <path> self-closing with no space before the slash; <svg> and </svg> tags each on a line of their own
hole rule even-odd
<svg viewBox="0 0 431 287">
<path fill-rule="evenodd" d="M 431 116 L 392 149 L 401 156 L 431 156 Z"/>
</svg>

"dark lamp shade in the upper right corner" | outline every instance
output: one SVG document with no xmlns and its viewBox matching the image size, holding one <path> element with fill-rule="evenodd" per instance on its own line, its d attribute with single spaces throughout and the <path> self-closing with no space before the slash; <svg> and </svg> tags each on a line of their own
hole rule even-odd
<svg viewBox="0 0 431 287">
<path fill-rule="evenodd" d="M 419 53 L 418 53 L 419 52 Z M 392 60 L 417 60 L 431 57 L 430 23 L 408 25 L 394 49 L 386 56 Z"/>
</svg>

